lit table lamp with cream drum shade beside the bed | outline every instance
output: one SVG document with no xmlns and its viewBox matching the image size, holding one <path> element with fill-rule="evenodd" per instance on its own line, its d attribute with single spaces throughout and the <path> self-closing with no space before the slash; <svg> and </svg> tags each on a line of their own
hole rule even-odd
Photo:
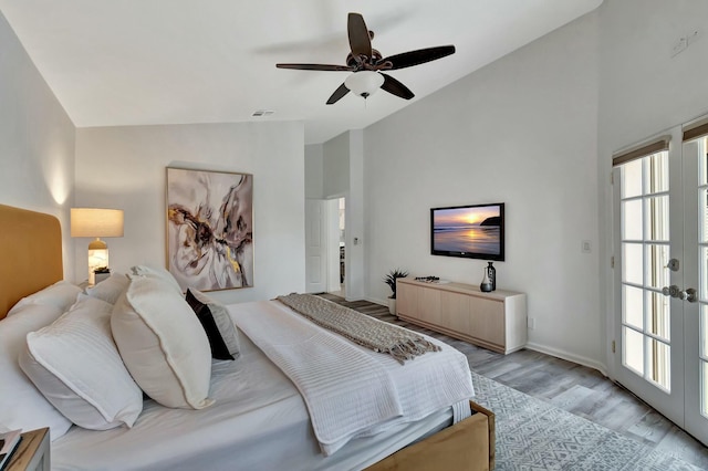
<svg viewBox="0 0 708 471">
<path fill-rule="evenodd" d="M 108 244 L 102 237 L 123 237 L 123 210 L 72 208 L 71 237 L 96 238 L 88 244 L 88 284 L 95 284 L 97 269 L 108 270 Z"/>
</svg>

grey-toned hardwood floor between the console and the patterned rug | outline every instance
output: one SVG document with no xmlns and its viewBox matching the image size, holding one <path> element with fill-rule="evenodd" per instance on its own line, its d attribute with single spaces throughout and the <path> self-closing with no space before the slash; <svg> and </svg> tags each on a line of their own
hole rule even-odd
<svg viewBox="0 0 708 471">
<path fill-rule="evenodd" d="M 528 349 L 498 354 L 399 321 L 386 306 L 347 302 L 331 294 L 322 296 L 439 338 L 462 352 L 470 369 L 482 376 L 708 470 L 708 448 L 595 369 Z"/>
</svg>

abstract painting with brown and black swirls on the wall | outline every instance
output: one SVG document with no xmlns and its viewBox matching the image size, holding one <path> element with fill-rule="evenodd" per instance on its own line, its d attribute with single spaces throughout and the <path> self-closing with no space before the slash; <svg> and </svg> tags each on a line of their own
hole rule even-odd
<svg viewBox="0 0 708 471">
<path fill-rule="evenodd" d="M 167 168 L 167 269 L 183 291 L 253 286 L 253 176 Z"/>
</svg>

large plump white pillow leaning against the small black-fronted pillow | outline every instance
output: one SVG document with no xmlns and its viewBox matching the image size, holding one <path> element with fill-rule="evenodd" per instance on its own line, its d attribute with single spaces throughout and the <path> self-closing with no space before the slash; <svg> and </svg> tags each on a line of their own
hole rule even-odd
<svg viewBox="0 0 708 471">
<path fill-rule="evenodd" d="M 140 388 L 166 407 L 202 409 L 211 352 L 191 307 L 164 280 L 133 276 L 111 315 L 123 362 Z"/>
</svg>

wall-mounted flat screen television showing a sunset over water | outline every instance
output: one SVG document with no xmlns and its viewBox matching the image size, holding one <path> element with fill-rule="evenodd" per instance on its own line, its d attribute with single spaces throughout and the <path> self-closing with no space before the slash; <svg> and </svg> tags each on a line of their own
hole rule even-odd
<svg viewBox="0 0 708 471">
<path fill-rule="evenodd" d="M 430 253 L 504 260 L 504 203 L 430 209 Z"/>
</svg>

